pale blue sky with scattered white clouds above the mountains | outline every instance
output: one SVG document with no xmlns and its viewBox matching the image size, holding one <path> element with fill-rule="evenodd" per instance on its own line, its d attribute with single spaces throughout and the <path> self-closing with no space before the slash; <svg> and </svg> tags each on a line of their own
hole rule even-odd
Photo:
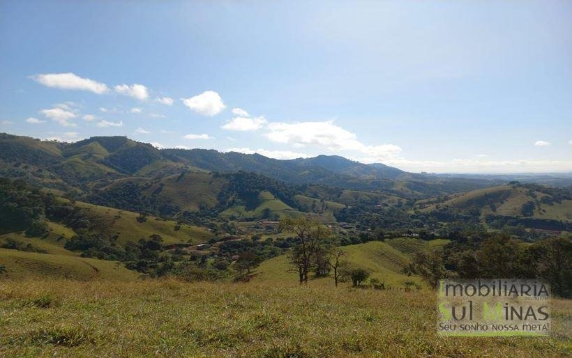
<svg viewBox="0 0 572 358">
<path fill-rule="evenodd" d="M 572 172 L 572 1 L 1 1 L 0 132 Z"/>
</svg>

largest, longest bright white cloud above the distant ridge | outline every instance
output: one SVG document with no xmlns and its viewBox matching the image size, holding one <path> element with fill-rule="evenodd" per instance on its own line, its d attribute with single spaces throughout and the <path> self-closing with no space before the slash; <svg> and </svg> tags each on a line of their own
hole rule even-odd
<svg viewBox="0 0 572 358">
<path fill-rule="evenodd" d="M 288 143 L 302 148 L 317 146 L 333 152 L 357 151 L 365 155 L 363 160 L 381 162 L 396 157 L 401 148 L 394 144 L 368 146 L 358 141 L 356 134 L 333 123 L 322 122 L 270 123 L 266 137 L 276 143 Z"/>
</svg>

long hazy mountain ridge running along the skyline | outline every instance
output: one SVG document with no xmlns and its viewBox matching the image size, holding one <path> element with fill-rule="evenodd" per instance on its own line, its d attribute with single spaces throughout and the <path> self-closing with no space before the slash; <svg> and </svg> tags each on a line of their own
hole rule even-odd
<svg viewBox="0 0 572 358">
<path fill-rule="evenodd" d="M 163 178 L 181 171 L 259 173 L 292 185 L 324 185 L 419 199 L 465 192 L 503 180 L 407 173 L 381 163 L 337 155 L 279 160 L 259 154 L 206 149 L 158 149 L 127 137 L 91 137 L 75 143 L 0 134 L 0 176 L 26 177 L 57 189 L 89 190 L 98 180 Z"/>
</svg>

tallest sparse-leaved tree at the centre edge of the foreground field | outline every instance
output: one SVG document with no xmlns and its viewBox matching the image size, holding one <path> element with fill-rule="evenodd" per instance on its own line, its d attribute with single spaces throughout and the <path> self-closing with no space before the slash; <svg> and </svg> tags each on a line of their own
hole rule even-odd
<svg viewBox="0 0 572 358">
<path fill-rule="evenodd" d="M 331 232 L 319 222 L 300 217 L 298 219 L 284 219 L 280 221 L 280 230 L 294 233 L 299 244 L 292 248 L 289 254 L 289 263 L 298 273 L 300 284 L 308 283 L 308 272 L 313 267 L 313 258 L 320 245 L 329 238 Z"/>
</svg>

